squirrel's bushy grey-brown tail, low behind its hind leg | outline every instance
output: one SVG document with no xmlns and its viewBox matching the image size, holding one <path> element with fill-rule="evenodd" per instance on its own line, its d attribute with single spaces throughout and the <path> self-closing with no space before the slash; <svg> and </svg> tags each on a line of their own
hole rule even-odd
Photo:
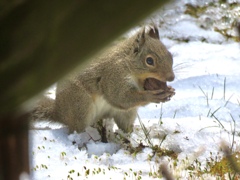
<svg viewBox="0 0 240 180">
<path fill-rule="evenodd" d="M 32 120 L 54 120 L 55 100 L 43 97 L 32 111 Z"/>
</svg>

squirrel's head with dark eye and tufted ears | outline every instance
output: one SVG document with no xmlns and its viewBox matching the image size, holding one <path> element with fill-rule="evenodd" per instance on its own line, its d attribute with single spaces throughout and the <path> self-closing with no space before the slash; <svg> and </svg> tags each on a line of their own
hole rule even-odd
<svg viewBox="0 0 240 180">
<path fill-rule="evenodd" d="M 143 28 L 135 36 L 133 46 L 132 60 L 139 79 L 155 78 L 163 82 L 174 80 L 172 55 L 161 43 L 155 25 L 148 30 Z"/>
</svg>

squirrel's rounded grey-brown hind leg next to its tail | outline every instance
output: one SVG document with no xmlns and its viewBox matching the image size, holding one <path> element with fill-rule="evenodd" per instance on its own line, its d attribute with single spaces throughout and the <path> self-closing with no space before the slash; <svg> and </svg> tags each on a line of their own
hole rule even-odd
<svg viewBox="0 0 240 180">
<path fill-rule="evenodd" d="M 69 133 L 81 133 L 92 124 L 92 99 L 74 83 L 56 94 L 56 119 L 69 128 Z"/>
</svg>

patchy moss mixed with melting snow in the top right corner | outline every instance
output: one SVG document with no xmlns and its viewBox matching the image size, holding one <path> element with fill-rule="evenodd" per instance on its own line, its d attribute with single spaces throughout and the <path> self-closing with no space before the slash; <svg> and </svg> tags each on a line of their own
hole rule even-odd
<svg viewBox="0 0 240 180">
<path fill-rule="evenodd" d="M 214 30 L 226 39 L 240 42 L 239 34 L 234 31 L 236 28 L 239 31 L 237 23 L 240 18 L 239 9 L 240 3 L 228 3 L 225 0 L 219 0 L 214 3 L 206 3 L 203 6 L 186 4 L 184 13 L 196 18 L 200 27 Z M 201 18 L 202 20 L 200 20 Z"/>
</svg>

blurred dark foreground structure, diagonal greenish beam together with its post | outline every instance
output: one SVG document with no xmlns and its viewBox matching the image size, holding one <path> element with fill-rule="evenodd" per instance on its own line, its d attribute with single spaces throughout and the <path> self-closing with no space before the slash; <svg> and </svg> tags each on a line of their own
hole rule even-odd
<svg viewBox="0 0 240 180">
<path fill-rule="evenodd" d="M 166 1 L 0 2 L 0 180 L 29 173 L 22 103 Z"/>
</svg>

